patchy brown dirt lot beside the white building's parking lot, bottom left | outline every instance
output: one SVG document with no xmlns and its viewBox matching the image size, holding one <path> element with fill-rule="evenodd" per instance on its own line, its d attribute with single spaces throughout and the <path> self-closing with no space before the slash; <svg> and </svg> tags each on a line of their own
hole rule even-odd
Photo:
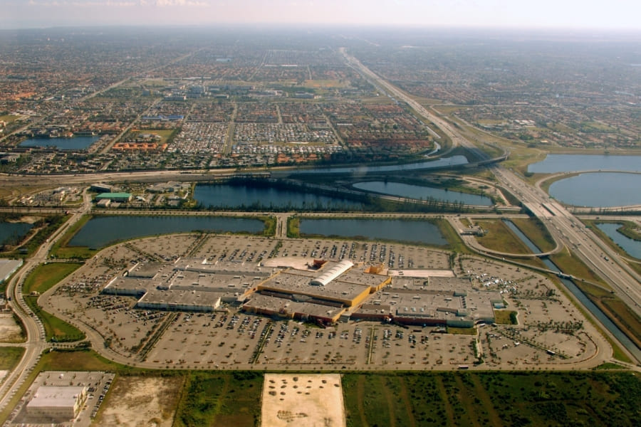
<svg viewBox="0 0 641 427">
<path fill-rule="evenodd" d="M 120 376 L 93 426 L 171 427 L 183 382 L 181 376 Z"/>
</svg>

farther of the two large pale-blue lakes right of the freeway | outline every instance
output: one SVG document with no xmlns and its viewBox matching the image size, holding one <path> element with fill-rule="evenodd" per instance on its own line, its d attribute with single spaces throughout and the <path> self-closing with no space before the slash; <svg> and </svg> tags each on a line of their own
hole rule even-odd
<svg viewBox="0 0 641 427">
<path fill-rule="evenodd" d="M 641 172 L 641 156 L 610 154 L 548 154 L 543 162 L 528 166 L 528 172 L 554 174 L 581 171 Z"/>
</svg>

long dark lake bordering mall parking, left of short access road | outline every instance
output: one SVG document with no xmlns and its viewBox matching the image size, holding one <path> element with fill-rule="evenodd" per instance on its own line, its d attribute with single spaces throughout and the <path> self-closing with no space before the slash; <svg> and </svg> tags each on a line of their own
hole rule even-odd
<svg viewBox="0 0 641 427">
<path fill-rule="evenodd" d="M 222 216 L 98 216 L 71 238 L 68 246 L 104 248 L 117 241 L 157 234 L 211 232 L 260 233 L 263 221 Z"/>
</svg>

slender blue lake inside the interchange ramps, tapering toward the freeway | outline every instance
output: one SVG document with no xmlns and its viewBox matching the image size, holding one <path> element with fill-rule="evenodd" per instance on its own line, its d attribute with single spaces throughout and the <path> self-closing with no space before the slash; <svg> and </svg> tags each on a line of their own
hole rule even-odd
<svg viewBox="0 0 641 427">
<path fill-rule="evenodd" d="M 400 182 L 365 181 L 357 182 L 356 184 L 353 184 L 353 187 L 359 190 L 374 191 L 375 193 L 408 197 L 410 199 L 436 199 L 439 201 L 448 201 L 450 203 L 462 202 L 469 205 L 492 206 L 491 199 L 486 196 L 437 189 L 429 186 L 402 184 Z"/>
</svg>

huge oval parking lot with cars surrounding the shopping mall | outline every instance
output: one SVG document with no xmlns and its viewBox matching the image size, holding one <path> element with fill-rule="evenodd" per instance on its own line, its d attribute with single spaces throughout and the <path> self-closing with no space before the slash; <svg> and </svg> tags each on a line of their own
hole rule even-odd
<svg viewBox="0 0 641 427">
<path fill-rule="evenodd" d="M 518 324 L 480 325 L 461 334 L 353 320 L 321 328 L 278 315 L 249 314 L 231 303 L 209 313 L 167 312 L 135 307 L 135 295 L 100 293 L 111 278 L 135 263 L 172 263 L 181 257 L 247 271 L 252 265 L 274 271 L 305 269 L 314 259 L 382 265 L 382 274 L 418 271 L 428 280 L 432 269 L 437 276 L 449 271 L 469 278 L 474 288 L 500 292 L 505 310 L 517 313 Z M 389 242 L 192 233 L 105 249 L 40 301 L 73 325 L 98 331 L 110 351 L 149 367 L 456 369 L 479 357 L 485 367 L 561 367 L 589 362 L 599 353 L 592 325 L 550 278 L 469 255 L 454 258 L 453 270 L 449 263 L 447 251 Z"/>
</svg>

